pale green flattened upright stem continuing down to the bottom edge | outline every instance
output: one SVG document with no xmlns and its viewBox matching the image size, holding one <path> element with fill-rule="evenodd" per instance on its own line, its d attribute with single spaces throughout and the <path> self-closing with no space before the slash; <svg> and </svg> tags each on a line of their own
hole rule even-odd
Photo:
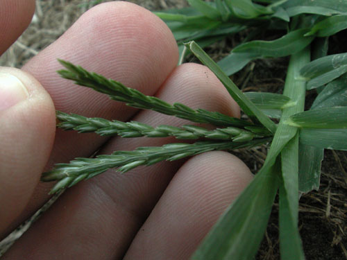
<svg viewBox="0 0 347 260">
<path fill-rule="evenodd" d="M 285 260 L 305 259 L 297 225 L 298 131 L 285 122 L 289 116 L 304 109 L 305 82 L 298 80 L 298 75 L 301 67 L 308 62 L 310 62 L 310 49 L 308 48 L 291 55 L 283 94 L 291 98 L 294 105 L 283 109 L 278 129 L 264 163 L 264 166 L 271 164 L 280 153 L 280 252 L 281 258 Z"/>
</svg>

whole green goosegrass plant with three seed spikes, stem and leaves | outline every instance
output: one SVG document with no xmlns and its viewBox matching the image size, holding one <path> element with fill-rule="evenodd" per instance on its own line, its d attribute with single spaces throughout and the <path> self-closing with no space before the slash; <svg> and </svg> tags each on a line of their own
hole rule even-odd
<svg viewBox="0 0 347 260">
<path fill-rule="evenodd" d="M 169 104 L 104 78 L 66 61 L 58 71 L 63 78 L 107 94 L 132 107 L 154 110 L 197 123 L 216 125 L 208 130 L 195 125 L 153 127 L 135 121 L 108 121 L 57 112 L 58 127 L 99 135 L 176 137 L 190 143 L 139 147 L 111 155 L 76 158 L 56 164 L 42 181 L 56 181 L 51 193 L 99 175 L 109 168 L 126 173 L 140 165 L 173 161 L 210 150 L 232 150 L 269 144 L 266 160 L 251 184 L 205 237 L 192 259 L 253 259 L 257 253 L 273 202 L 278 194 L 281 259 L 305 259 L 298 232 L 300 194 L 318 189 L 324 149 L 347 150 L 347 53 L 328 55 L 329 37 L 347 28 L 346 0 L 188 0 L 189 8 L 155 12 L 174 33 L 180 63 L 190 53 L 221 80 L 245 117 Z M 203 47 L 247 32 L 231 53 L 214 62 Z M 271 41 L 253 40 L 264 32 L 280 35 Z M 243 93 L 230 76 L 255 59 L 289 56 L 282 94 Z M 305 110 L 307 89 L 317 96 Z"/>
</svg>

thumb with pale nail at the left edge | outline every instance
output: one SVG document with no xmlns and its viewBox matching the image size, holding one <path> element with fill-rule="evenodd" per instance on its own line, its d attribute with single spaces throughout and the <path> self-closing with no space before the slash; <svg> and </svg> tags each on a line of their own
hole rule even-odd
<svg viewBox="0 0 347 260">
<path fill-rule="evenodd" d="M 53 101 L 33 76 L 0 67 L 0 234 L 19 216 L 51 153 Z"/>
</svg>

